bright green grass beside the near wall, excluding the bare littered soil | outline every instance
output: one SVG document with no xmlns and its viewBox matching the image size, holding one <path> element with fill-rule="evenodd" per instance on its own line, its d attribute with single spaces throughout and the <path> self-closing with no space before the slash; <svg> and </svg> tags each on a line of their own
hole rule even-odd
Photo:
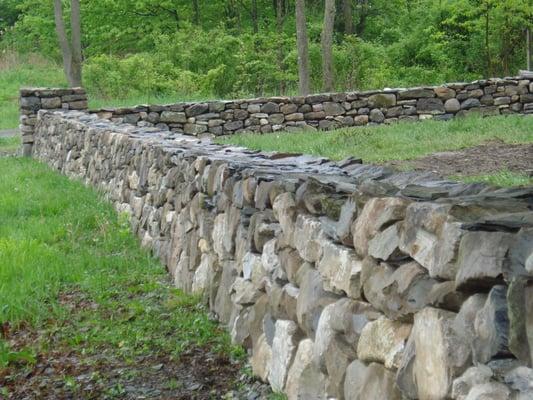
<svg viewBox="0 0 533 400">
<path fill-rule="evenodd" d="M 103 196 L 30 159 L 0 158 L 0 171 L 0 326 L 30 326 L 83 354 L 111 347 L 126 360 L 189 346 L 243 356 L 197 298 L 170 286 Z M 27 357 L 0 339 L 0 369 Z"/>
</svg>

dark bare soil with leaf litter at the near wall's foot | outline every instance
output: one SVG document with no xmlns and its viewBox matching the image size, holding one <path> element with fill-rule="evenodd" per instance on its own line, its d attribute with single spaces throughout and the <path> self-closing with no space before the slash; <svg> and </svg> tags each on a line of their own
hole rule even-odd
<svg viewBox="0 0 533 400">
<path fill-rule="evenodd" d="M 61 305 L 74 315 L 81 309 L 98 309 L 79 292 L 60 297 Z M 25 324 L 14 330 L 8 323 L 0 326 L 0 338 L 13 351 L 37 350 L 34 362 L 0 367 L 0 400 L 259 400 L 271 393 L 267 385 L 243 373 L 242 361 L 209 346 L 190 346 L 179 357 L 147 351 L 124 358 L 111 345 L 95 352 L 83 343 L 66 343 L 60 334 L 63 328 L 53 321 L 42 330 Z"/>
</svg>

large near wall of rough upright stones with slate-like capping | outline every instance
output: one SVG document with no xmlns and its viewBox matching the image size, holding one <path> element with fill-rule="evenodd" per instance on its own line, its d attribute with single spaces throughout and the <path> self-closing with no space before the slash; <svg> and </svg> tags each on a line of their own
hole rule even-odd
<svg viewBox="0 0 533 400">
<path fill-rule="evenodd" d="M 289 399 L 533 398 L 533 188 L 39 112 L 34 155 L 103 190 Z"/>
</svg>

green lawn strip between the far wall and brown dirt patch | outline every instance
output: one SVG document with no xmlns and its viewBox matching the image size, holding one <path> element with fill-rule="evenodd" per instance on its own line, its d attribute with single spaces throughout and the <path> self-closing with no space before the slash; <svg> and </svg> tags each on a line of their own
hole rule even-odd
<svg viewBox="0 0 533 400">
<path fill-rule="evenodd" d="M 256 150 L 313 154 L 340 160 L 361 157 L 365 162 L 412 160 L 437 151 L 463 149 L 490 140 L 533 142 L 533 118 L 458 118 L 378 125 L 325 132 L 242 134 L 219 138 L 219 143 Z"/>
</svg>

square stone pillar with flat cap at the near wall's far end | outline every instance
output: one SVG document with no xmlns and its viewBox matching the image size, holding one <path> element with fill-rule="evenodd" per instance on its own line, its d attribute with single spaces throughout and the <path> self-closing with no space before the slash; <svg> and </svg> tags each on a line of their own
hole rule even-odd
<svg viewBox="0 0 533 400">
<path fill-rule="evenodd" d="M 88 102 L 82 88 L 23 88 L 20 90 L 19 106 L 22 154 L 28 157 L 32 154 L 33 132 L 39 110 L 87 110 Z"/>
</svg>

